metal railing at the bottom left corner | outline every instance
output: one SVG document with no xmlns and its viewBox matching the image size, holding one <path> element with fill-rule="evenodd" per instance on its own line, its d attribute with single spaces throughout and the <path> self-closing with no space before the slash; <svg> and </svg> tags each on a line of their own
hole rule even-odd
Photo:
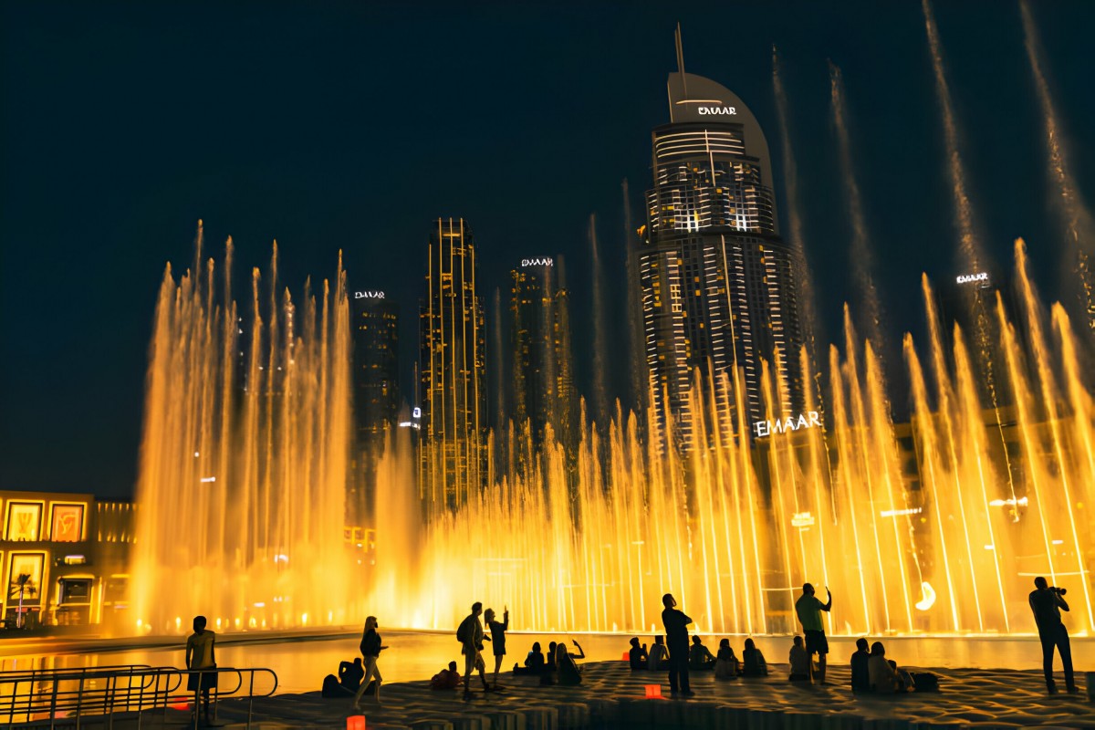
<svg viewBox="0 0 1095 730">
<path fill-rule="evenodd" d="M 216 675 L 216 682 L 208 680 L 210 674 Z M 256 674 L 268 674 L 272 681 L 272 686 L 257 695 Z M 220 686 L 222 675 L 234 675 L 235 686 Z M 183 680 L 192 676 L 197 679 L 194 683 L 197 688 L 184 690 Z M 250 728 L 255 697 L 272 696 L 277 692 L 277 674 L 265 668 L 226 667 L 191 671 L 128 664 L 13 670 L 0 672 L 0 718 L 5 718 L 0 723 L 10 730 L 30 726 L 55 728 L 59 720 L 66 726 L 74 721 L 79 730 L 81 718 L 94 716 L 97 722 L 105 720 L 106 727 L 113 728 L 115 716 L 136 714 L 137 727 L 140 728 L 143 712 L 162 710 L 165 720 L 169 709 L 193 708 L 193 723 L 197 728 L 201 687 L 208 686 L 214 718 L 218 699 L 246 698 Z"/>
</svg>

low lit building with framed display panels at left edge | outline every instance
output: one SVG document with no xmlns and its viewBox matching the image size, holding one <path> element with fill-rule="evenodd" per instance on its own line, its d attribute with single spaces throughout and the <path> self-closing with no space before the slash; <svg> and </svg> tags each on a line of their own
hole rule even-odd
<svg viewBox="0 0 1095 730">
<path fill-rule="evenodd" d="M 131 628 L 125 617 L 134 505 L 84 494 L 0 491 L 0 515 L 5 627 Z"/>
</svg>

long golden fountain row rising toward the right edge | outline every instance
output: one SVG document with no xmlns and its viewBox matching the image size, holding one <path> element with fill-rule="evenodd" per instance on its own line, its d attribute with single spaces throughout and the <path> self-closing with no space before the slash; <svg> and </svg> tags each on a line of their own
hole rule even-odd
<svg viewBox="0 0 1095 730">
<path fill-rule="evenodd" d="M 639 630 L 672 591 L 702 630 L 763 633 L 796 627 L 792 601 L 810 581 L 838 596 L 833 633 L 1029 633 L 1026 594 L 1046 575 L 1071 588 L 1073 633 L 1090 631 L 1095 408 L 1063 310 L 1052 337 L 1041 324 L 1022 243 L 1016 265 L 1022 322 L 996 310 L 1006 429 L 982 409 L 964 333 L 935 324 L 925 281 L 929 374 L 904 339 L 911 426 L 891 422 L 878 360 L 849 324 L 845 351 L 830 350 L 828 431 L 772 414 L 786 426 L 753 449 L 710 433 L 681 462 L 644 448 L 657 439 L 633 417 L 618 413 L 603 441 L 587 424 L 576 487 L 546 448 L 528 478 L 509 474 L 428 525 L 419 569 L 373 605 L 397 596 L 428 627 L 484 600 L 520 628 Z M 378 542 L 408 520 L 381 522 Z"/>
</svg>

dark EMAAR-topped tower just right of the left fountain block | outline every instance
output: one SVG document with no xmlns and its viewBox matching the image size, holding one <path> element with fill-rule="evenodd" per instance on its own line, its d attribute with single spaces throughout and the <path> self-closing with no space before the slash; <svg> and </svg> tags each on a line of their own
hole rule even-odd
<svg viewBox="0 0 1095 730">
<path fill-rule="evenodd" d="M 350 297 L 356 449 L 346 517 L 357 525 L 369 514 L 376 464 L 400 408 L 400 311 L 380 290 L 356 290 Z"/>
</svg>

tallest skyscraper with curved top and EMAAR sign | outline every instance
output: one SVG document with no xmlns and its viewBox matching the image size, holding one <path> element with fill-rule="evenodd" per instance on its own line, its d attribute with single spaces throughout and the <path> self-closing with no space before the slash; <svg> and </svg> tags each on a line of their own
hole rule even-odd
<svg viewBox="0 0 1095 730">
<path fill-rule="evenodd" d="M 679 66 L 669 77 L 669 124 L 653 135 L 654 187 L 636 258 L 652 412 L 688 449 L 690 396 L 703 397 L 707 427 L 723 438 L 768 417 L 762 360 L 775 372 L 776 351 L 772 415 L 800 412 L 804 333 L 800 262 L 780 239 L 764 134 L 734 93 Z M 747 424 L 735 422 L 735 368 Z M 696 371 L 701 393 L 692 392 Z"/>
</svg>

